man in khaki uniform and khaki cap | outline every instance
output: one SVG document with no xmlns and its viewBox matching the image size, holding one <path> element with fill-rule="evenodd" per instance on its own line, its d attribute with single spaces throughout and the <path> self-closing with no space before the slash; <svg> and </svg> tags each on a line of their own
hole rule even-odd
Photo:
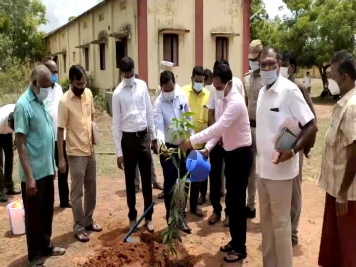
<svg viewBox="0 0 356 267">
<path fill-rule="evenodd" d="M 247 206 L 246 217 L 255 218 L 255 197 L 256 197 L 256 106 L 260 89 L 263 87 L 260 76 L 260 54 L 262 51 L 261 40 L 253 40 L 249 48 L 249 59 L 251 71 L 244 75 L 244 87 L 246 90 L 247 111 L 250 118 L 252 135 L 252 146 L 254 151 L 254 162 L 247 185 Z"/>
</svg>

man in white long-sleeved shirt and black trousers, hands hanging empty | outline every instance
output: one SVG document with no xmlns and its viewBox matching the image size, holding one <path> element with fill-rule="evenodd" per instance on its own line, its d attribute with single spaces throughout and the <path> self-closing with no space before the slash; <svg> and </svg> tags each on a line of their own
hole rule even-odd
<svg viewBox="0 0 356 267">
<path fill-rule="evenodd" d="M 137 163 L 141 173 L 144 210 L 152 203 L 150 143 L 151 148 L 157 151 L 157 137 L 147 85 L 144 81 L 135 79 L 134 60 L 124 57 L 119 68 L 123 81 L 113 93 L 113 137 L 118 168 L 125 172 L 131 228 L 137 218 L 134 184 Z M 152 213 L 153 208 L 145 218 L 145 226 L 149 232 L 154 231 Z"/>
</svg>

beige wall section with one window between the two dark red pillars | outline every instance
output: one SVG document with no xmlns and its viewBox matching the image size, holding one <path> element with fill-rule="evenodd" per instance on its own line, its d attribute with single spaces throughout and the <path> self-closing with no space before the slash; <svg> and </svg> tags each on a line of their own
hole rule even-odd
<svg viewBox="0 0 356 267">
<path fill-rule="evenodd" d="M 148 88 L 159 84 L 160 62 L 163 60 L 163 34 L 160 29 L 189 30 L 178 36 L 178 66 L 173 73 L 180 86 L 190 83 L 195 65 L 195 5 L 193 0 L 148 0 Z"/>
</svg>

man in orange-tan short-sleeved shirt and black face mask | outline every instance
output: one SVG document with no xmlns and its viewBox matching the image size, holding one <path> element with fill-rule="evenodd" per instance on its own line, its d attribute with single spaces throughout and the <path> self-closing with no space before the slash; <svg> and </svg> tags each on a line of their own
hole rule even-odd
<svg viewBox="0 0 356 267">
<path fill-rule="evenodd" d="M 86 74 L 82 66 L 73 65 L 70 68 L 69 80 L 70 88 L 58 105 L 59 171 L 64 173 L 66 169 L 63 152 L 63 132 L 66 129 L 66 151 L 72 181 L 70 198 L 73 229 L 80 242 L 88 242 L 89 235 L 86 230 L 102 230 L 92 219 L 96 204 L 96 160 L 92 139 L 94 105 L 91 91 L 85 88 Z"/>
</svg>

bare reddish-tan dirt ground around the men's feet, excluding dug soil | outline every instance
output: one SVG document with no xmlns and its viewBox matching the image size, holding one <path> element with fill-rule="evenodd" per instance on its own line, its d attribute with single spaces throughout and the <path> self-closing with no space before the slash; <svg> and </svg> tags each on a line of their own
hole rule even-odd
<svg viewBox="0 0 356 267">
<path fill-rule="evenodd" d="M 318 118 L 325 119 L 325 123 L 330 118 L 331 107 L 316 105 Z M 110 122 L 103 122 L 101 129 L 109 130 Z M 320 133 L 322 138 L 323 133 Z M 108 138 L 110 138 L 109 136 Z M 319 138 L 319 136 L 318 136 Z M 322 140 L 319 141 L 322 144 Z M 315 149 L 317 150 L 317 149 Z M 320 150 L 320 149 L 319 149 Z M 110 151 L 110 149 L 108 149 Z M 111 151 L 112 152 L 112 151 Z M 306 161 L 303 181 L 303 210 L 299 226 L 299 245 L 294 248 L 294 266 L 314 267 L 317 266 L 317 255 L 319 251 L 323 205 L 325 194 L 315 184 L 308 180 L 315 180 L 318 172 L 320 155 L 313 155 L 314 159 Z M 94 218 L 97 223 L 103 225 L 101 233 L 91 234 L 89 243 L 80 243 L 74 239 L 72 232 L 71 210 L 62 210 L 58 207 L 58 196 L 56 186 L 55 215 L 53 218 L 52 241 L 57 246 L 67 249 L 62 257 L 49 258 L 46 264 L 49 267 L 71 267 L 85 263 L 89 257 L 95 255 L 100 247 L 107 246 L 108 241 L 122 235 L 127 230 L 127 205 L 125 181 L 123 173 L 116 169 L 111 169 L 115 165 L 115 156 L 110 160 L 98 160 L 98 182 L 97 182 L 97 206 Z M 109 173 L 102 169 L 110 164 Z M 104 167 L 103 167 L 104 166 Z M 162 171 L 156 164 L 158 179 L 163 181 Z M 154 200 L 156 206 L 154 210 L 154 223 L 156 230 L 166 227 L 165 208 L 162 200 L 157 199 L 159 191 L 154 190 Z M 19 199 L 15 197 L 13 199 Z M 137 194 L 137 210 L 142 213 L 143 198 L 141 192 Z M 23 267 L 26 266 L 26 237 L 13 236 L 9 231 L 8 215 L 5 204 L 0 204 L 0 266 Z M 210 205 L 203 207 L 205 217 L 203 220 L 188 213 L 188 224 L 192 228 L 192 234 L 183 236 L 183 245 L 190 255 L 199 256 L 201 259 L 197 267 L 221 267 L 221 266 L 262 266 L 261 253 L 261 230 L 259 214 L 257 218 L 248 222 L 247 248 L 248 257 L 243 264 L 224 264 L 223 254 L 219 252 L 221 245 L 229 241 L 228 228 L 222 224 L 209 226 L 207 217 L 212 212 Z M 257 205 L 257 213 L 259 207 Z M 143 229 L 142 229 L 143 231 Z"/>
</svg>

